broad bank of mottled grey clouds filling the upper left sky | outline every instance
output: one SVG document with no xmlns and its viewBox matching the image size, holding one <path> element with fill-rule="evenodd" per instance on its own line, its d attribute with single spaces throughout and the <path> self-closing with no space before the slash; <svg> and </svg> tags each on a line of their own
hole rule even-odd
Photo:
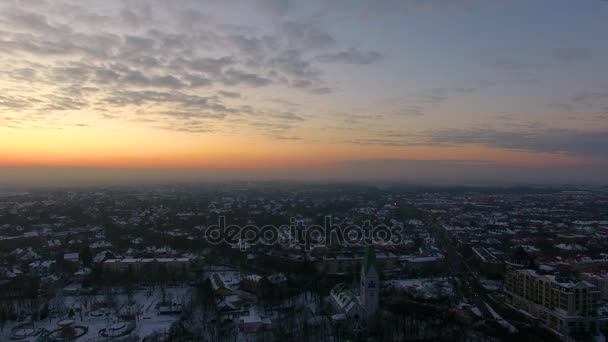
<svg viewBox="0 0 608 342">
<path fill-rule="evenodd" d="M 208 14 L 213 6 L 245 6 L 274 17 L 262 31 L 217 22 Z M 239 116 L 247 115 L 253 122 L 271 120 L 272 127 L 266 127 L 271 135 L 293 137 L 288 131 L 304 120 L 293 111 L 296 106 L 275 102 L 285 107 L 268 111 L 230 107 L 222 99 L 243 98 L 249 88 L 272 86 L 329 94 L 332 86 L 315 56 L 364 65 L 381 55 L 345 49 L 316 19 L 287 20 L 291 6 L 288 0 L 2 3 L 0 65 L 8 70 L 14 89 L 0 89 L 0 107 L 27 111 L 24 122 L 33 127 L 57 121 L 64 111 L 85 108 L 99 118 L 132 120 L 127 108 L 135 106 L 148 112 L 146 122 L 185 132 L 214 129 L 190 125 L 195 119 L 238 123 Z M 44 65 L 35 62 L 41 58 Z M 38 86 L 48 93 L 20 97 L 15 90 Z"/>
</svg>

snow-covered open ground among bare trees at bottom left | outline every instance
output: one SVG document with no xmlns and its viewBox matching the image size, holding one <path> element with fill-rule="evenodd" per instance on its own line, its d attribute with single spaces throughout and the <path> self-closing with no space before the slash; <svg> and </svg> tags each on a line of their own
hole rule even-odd
<svg viewBox="0 0 608 342">
<path fill-rule="evenodd" d="M 106 302 L 112 298 L 116 305 L 114 308 L 99 308 L 99 304 Z M 188 303 L 191 299 L 191 290 L 189 287 L 170 287 L 165 290 L 165 300 L 171 300 L 173 303 Z M 35 329 L 46 329 L 49 331 L 58 328 L 57 323 L 65 319 L 70 309 L 74 309 L 72 319 L 76 326 L 86 326 L 88 331 L 80 337 L 78 341 L 95 341 L 101 338 L 100 330 L 107 329 L 117 322 L 116 313 L 120 310 L 132 310 L 136 313 L 136 327 L 132 332 L 132 336 L 136 335 L 139 338 L 159 332 L 163 333 L 169 330 L 171 325 L 179 319 L 178 315 L 159 315 L 156 311 L 156 304 L 162 300 L 162 291 L 160 288 L 139 288 L 132 293 L 133 305 L 128 305 L 128 296 L 125 293 L 118 294 L 100 294 L 96 296 L 57 296 L 51 299 L 51 307 L 58 307 L 65 314 L 45 318 L 34 322 Z M 62 304 L 63 303 L 63 304 Z M 87 305 L 85 305 L 87 304 Z M 88 309 L 84 309 L 87 306 Z M 83 308 L 82 315 L 78 308 Z M 94 310 L 91 310 L 95 308 Z M 4 331 L 0 333 L 1 341 L 10 341 L 11 328 L 18 325 L 18 322 L 8 322 L 4 326 Z M 22 341 L 35 341 L 35 337 Z M 105 339 L 100 339 L 105 340 Z"/>
</svg>

